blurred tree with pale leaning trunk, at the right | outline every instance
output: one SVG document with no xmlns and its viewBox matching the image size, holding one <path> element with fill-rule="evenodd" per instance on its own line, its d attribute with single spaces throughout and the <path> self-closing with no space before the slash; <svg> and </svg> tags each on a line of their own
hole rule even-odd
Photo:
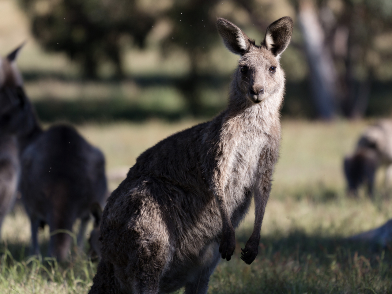
<svg viewBox="0 0 392 294">
<path fill-rule="evenodd" d="M 392 52 L 376 42 L 392 34 L 392 1 L 295 0 L 293 4 L 319 116 L 363 116 L 371 82 L 380 76 L 381 60 L 392 60 Z"/>
</svg>

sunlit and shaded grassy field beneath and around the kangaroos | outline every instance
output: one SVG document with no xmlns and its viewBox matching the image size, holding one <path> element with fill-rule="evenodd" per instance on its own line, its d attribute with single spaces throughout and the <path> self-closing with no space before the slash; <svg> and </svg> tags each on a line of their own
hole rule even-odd
<svg viewBox="0 0 392 294">
<path fill-rule="evenodd" d="M 109 186 L 114 189 L 140 152 L 194 123 L 88 124 L 78 129 L 105 153 Z M 374 201 L 363 192 L 359 200 L 345 197 L 342 159 L 367 123 L 283 121 L 281 156 L 258 258 L 250 266 L 239 258 L 252 230 L 250 212 L 236 231 L 234 258 L 218 265 L 209 293 L 391 292 L 390 252 L 345 240 L 392 217 L 392 202 L 382 187 L 383 171 L 377 174 Z M 0 292 L 87 293 L 96 264 L 86 256 L 73 255 L 60 265 L 51 258 L 29 256 L 29 227 L 20 206 L 4 221 Z M 48 239 L 45 228 L 40 232 L 44 256 Z"/>
</svg>

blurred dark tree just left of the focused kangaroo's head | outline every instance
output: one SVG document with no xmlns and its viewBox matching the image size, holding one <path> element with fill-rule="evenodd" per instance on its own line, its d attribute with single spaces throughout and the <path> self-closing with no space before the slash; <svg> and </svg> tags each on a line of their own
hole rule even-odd
<svg viewBox="0 0 392 294">
<path fill-rule="evenodd" d="M 200 84 L 203 79 L 211 79 L 216 75 L 209 68 L 201 69 L 200 64 L 208 59 L 212 47 L 220 42 L 220 37 L 216 32 L 216 18 L 225 17 L 238 25 L 245 22 L 253 22 L 259 26 L 267 28 L 267 24 L 260 19 L 266 14 L 267 9 L 260 13 L 257 0 L 174 0 L 174 5 L 169 11 L 169 18 L 172 21 L 172 33 L 163 40 L 164 51 L 170 50 L 173 46 L 179 47 L 187 52 L 190 60 L 190 71 L 185 79 L 180 80 L 178 88 L 190 104 L 192 114 L 203 112 L 203 105 L 200 99 Z M 220 9 L 220 6 L 223 8 Z M 252 14 L 249 13 L 252 11 Z M 238 17 L 238 14 L 241 17 Z M 239 24 L 238 22 L 242 22 Z M 219 43 L 221 44 L 221 43 Z"/>
</svg>

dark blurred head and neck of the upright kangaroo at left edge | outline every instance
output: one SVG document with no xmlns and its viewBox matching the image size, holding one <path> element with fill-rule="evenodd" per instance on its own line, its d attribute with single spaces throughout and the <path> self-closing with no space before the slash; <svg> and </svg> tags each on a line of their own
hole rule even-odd
<svg viewBox="0 0 392 294">
<path fill-rule="evenodd" d="M 31 104 L 23 90 L 23 80 L 16 67 L 16 57 L 22 45 L 0 57 L 0 134 L 29 131 L 32 123 Z"/>
</svg>

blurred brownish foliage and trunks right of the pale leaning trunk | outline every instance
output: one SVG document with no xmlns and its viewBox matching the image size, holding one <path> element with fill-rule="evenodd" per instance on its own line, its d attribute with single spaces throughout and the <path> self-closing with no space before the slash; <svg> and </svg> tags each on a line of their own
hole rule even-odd
<svg viewBox="0 0 392 294">
<path fill-rule="evenodd" d="M 303 2 L 311 1 L 293 3 L 298 10 Z M 372 81 L 388 78 L 385 65 L 392 62 L 392 46 L 389 44 L 390 48 L 386 49 L 378 41 L 392 36 L 392 2 L 317 0 L 313 3 L 323 28 L 326 52 L 331 54 L 336 69 L 336 113 L 363 116 Z"/>
</svg>

